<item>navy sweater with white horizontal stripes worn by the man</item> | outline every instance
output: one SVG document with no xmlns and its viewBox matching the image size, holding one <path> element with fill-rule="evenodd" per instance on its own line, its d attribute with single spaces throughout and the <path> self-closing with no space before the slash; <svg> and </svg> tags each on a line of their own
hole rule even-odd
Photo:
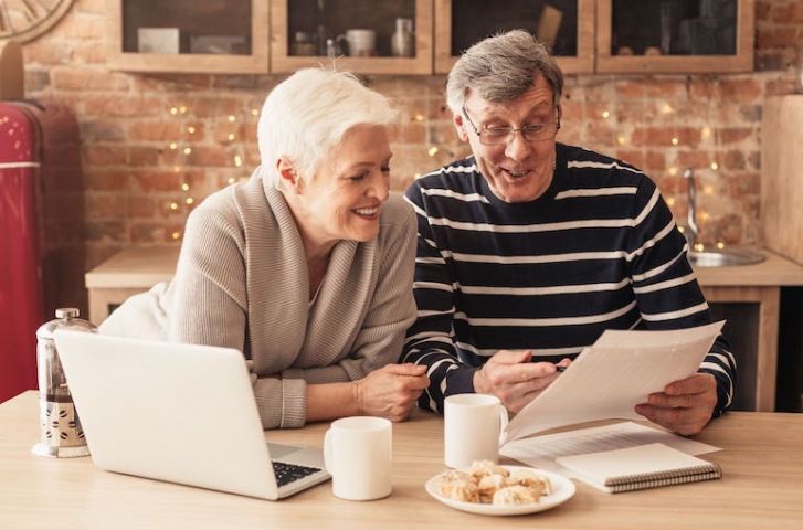
<svg viewBox="0 0 803 530">
<path fill-rule="evenodd" d="M 687 245 L 655 183 L 638 169 L 557 146 L 554 179 L 528 203 L 496 198 L 473 157 L 424 176 L 405 194 L 419 218 L 418 320 L 405 362 L 429 367 L 420 405 L 473 391 L 500 349 L 533 360 L 575 357 L 605 329 L 710 322 Z M 700 370 L 730 405 L 736 361 L 719 337 Z"/>
</svg>

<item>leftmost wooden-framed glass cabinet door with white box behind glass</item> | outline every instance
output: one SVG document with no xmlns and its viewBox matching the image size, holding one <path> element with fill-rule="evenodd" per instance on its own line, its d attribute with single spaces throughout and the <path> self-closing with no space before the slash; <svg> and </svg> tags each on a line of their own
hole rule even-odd
<svg viewBox="0 0 803 530">
<path fill-rule="evenodd" d="M 268 0 L 106 0 L 107 65 L 266 74 Z"/>
</svg>

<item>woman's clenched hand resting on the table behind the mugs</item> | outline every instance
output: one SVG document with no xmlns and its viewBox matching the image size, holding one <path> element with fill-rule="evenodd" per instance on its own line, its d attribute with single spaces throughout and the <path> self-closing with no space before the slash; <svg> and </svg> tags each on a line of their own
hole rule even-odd
<svg viewBox="0 0 803 530">
<path fill-rule="evenodd" d="M 429 385 L 426 367 L 387 364 L 355 381 L 355 401 L 362 415 L 401 422 L 410 416 L 415 400 Z"/>
</svg>

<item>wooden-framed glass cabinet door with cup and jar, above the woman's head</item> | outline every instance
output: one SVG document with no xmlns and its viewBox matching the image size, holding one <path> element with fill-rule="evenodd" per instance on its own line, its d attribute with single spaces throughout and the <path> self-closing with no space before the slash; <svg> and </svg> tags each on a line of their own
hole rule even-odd
<svg viewBox="0 0 803 530">
<path fill-rule="evenodd" d="M 432 2 L 271 0 L 271 72 L 335 60 L 362 74 L 432 74 Z"/>
</svg>

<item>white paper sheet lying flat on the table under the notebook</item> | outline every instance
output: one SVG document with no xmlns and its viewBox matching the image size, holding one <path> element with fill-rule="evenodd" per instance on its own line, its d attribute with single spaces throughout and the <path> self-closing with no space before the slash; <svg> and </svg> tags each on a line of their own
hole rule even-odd
<svg viewBox="0 0 803 530">
<path fill-rule="evenodd" d="M 664 444 L 687 455 L 704 455 L 720 451 L 719 447 L 714 445 L 678 436 L 659 428 L 647 427 L 633 422 L 620 422 L 599 427 L 577 428 L 563 433 L 516 439 L 505 444 L 499 449 L 499 454 L 539 469 L 573 477 L 572 474 L 554 462 L 556 458 L 648 444 Z"/>
</svg>

